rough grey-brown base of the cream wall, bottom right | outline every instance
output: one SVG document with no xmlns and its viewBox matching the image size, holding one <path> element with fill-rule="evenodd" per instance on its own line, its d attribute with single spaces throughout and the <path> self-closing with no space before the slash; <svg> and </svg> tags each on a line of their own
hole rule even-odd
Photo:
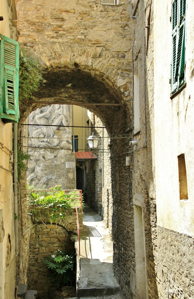
<svg viewBox="0 0 194 299">
<path fill-rule="evenodd" d="M 159 225 L 157 231 L 159 298 L 193 298 L 194 238 Z"/>
</svg>

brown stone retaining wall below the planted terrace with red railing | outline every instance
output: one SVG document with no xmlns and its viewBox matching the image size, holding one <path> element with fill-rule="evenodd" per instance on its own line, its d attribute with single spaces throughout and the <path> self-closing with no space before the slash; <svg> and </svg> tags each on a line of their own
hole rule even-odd
<svg viewBox="0 0 194 299">
<path fill-rule="evenodd" d="M 48 221 L 46 212 L 41 210 L 41 217 L 43 221 Z M 64 228 L 50 224 L 36 224 L 31 228 L 29 234 L 29 262 L 28 262 L 28 286 L 29 289 L 36 289 L 38 296 L 41 299 L 46 299 L 49 296 L 49 290 L 52 290 L 52 282 L 48 277 L 48 269 L 43 263 L 55 251 L 66 250 L 67 253 L 74 253 L 74 243 L 71 240 L 71 232 L 76 231 L 76 217 L 75 213 L 66 213 L 66 220 L 59 221 L 59 224 L 67 228 L 68 233 Z M 31 222 L 31 226 L 33 223 Z M 79 213 L 80 231 L 83 228 L 83 214 Z M 59 241 L 58 239 L 61 239 Z M 62 244 L 65 243 L 65 246 Z M 72 290 L 71 290 L 72 291 Z M 75 296 L 75 293 L 74 293 Z"/>
</svg>

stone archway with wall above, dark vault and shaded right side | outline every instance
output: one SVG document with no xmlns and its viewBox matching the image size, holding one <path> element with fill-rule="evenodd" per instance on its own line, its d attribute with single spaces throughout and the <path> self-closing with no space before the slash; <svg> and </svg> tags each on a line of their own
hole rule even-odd
<svg viewBox="0 0 194 299">
<path fill-rule="evenodd" d="M 18 0 L 16 4 L 20 45 L 45 70 L 44 85 L 34 94 L 33 103 L 22 107 L 19 129 L 31 111 L 51 103 L 79 103 L 102 120 L 111 137 L 112 189 L 107 197 L 113 215 L 114 260 L 123 266 L 131 256 L 127 241 L 120 242 L 124 239 L 121 214 L 133 222 L 133 213 L 125 206 L 130 196 L 125 157 L 130 151 L 133 97 L 128 6 L 128 0 L 115 6 L 90 0 Z M 121 243 L 125 255 L 118 257 Z M 130 269 L 124 275 L 130 277 Z"/>
</svg>

